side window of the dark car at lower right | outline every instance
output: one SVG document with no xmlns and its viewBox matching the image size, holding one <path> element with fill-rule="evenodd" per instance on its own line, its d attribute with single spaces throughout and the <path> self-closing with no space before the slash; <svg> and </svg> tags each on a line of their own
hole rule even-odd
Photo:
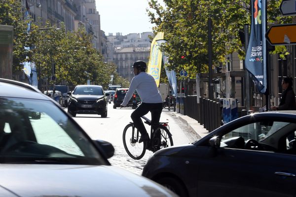
<svg viewBox="0 0 296 197">
<path fill-rule="evenodd" d="M 296 124 L 290 122 L 250 123 L 222 135 L 221 147 L 286 153 L 295 131 Z M 286 141 L 288 133 L 293 133 L 293 137 Z"/>
</svg>

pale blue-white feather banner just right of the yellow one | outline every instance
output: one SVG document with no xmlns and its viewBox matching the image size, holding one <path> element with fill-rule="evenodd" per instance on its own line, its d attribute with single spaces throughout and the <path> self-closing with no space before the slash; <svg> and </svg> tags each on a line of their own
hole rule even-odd
<svg viewBox="0 0 296 197">
<path fill-rule="evenodd" d="M 162 39 L 162 40 L 156 40 L 158 46 L 160 46 L 161 44 L 164 44 L 166 43 L 166 40 Z M 164 64 L 164 68 L 165 68 L 165 73 L 168 77 L 168 80 L 169 80 L 169 83 L 170 83 L 170 86 L 171 86 L 171 89 L 172 89 L 172 95 L 174 97 L 177 97 L 177 77 L 176 77 L 176 72 L 175 70 L 169 70 L 167 68 L 167 64 L 169 63 L 168 61 L 168 58 L 167 56 L 162 53 L 162 61 L 163 61 L 163 64 Z"/>
</svg>

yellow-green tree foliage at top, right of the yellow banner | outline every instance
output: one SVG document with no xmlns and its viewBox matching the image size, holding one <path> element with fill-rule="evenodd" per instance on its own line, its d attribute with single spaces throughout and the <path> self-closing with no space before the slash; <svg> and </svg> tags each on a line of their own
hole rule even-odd
<svg viewBox="0 0 296 197">
<path fill-rule="evenodd" d="M 197 72 L 208 72 L 208 20 L 213 21 L 213 66 L 226 62 L 226 55 L 237 52 L 245 56 L 239 31 L 250 24 L 250 0 L 149 0 L 148 16 L 155 32 L 164 32 L 167 44 L 161 46 L 170 69 L 185 69 L 190 78 Z M 291 17 L 280 17 L 280 1 L 268 0 L 268 21 L 287 23 Z M 181 58 L 185 56 L 185 58 Z"/>
</svg>

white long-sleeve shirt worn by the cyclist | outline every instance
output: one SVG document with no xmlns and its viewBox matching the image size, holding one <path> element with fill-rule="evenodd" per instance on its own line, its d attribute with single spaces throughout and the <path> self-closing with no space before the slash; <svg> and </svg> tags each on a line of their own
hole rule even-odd
<svg viewBox="0 0 296 197">
<path fill-rule="evenodd" d="M 135 90 L 137 90 L 142 102 L 162 103 L 162 98 L 157 89 L 154 78 L 146 72 L 140 72 L 138 75 L 134 76 L 121 105 L 127 105 Z"/>
</svg>

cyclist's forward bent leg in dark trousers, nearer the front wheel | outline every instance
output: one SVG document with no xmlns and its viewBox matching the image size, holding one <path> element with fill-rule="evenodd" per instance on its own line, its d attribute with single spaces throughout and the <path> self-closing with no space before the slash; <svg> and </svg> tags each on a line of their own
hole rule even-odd
<svg viewBox="0 0 296 197">
<path fill-rule="evenodd" d="M 141 136 L 146 136 L 146 138 L 147 138 L 148 132 L 143 124 L 141 117 L 146 115 L 148 112 L 149 112 L 149 106 L 147 105 L 147 103 L 142 103 L 131 114 L 131 118 L 134 122 L 135 127 L 140 131 Z M 148 135 L 148 139 L 149 139 L 149 135 Z"/>
</svg>

